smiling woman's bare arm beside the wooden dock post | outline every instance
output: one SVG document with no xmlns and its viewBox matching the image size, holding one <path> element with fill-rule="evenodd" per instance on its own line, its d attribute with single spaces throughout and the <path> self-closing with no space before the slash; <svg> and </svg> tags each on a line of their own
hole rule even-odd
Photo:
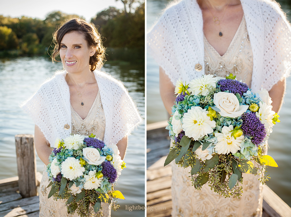
<svg viewBox="0 0 291 217">
<path fill-rule="evenodd" d="M 40 160 L 42 160 L 45 165 L 48 165 L 48 157 L 52 150 L 50 148 L 50 143 L 48 143 L 47 139 L 43 136 L 43 132 L 41 132 L 37 125 L 34 127 L 34 146 Z"/>
</svg>

